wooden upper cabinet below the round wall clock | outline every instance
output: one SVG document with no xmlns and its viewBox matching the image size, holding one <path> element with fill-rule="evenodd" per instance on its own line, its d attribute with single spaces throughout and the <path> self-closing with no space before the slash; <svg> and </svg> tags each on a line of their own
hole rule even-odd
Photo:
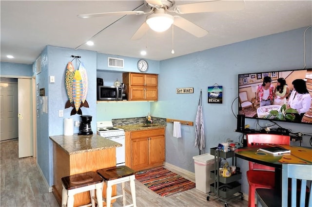
<svg viewBox="0 0 312 207">
<path fill-rule="evenodd" d="M 128 101 L 158 100 L 157 74 L 126 72 L 122 74 L 122 82 L 127 86 Z"/>
</svg>

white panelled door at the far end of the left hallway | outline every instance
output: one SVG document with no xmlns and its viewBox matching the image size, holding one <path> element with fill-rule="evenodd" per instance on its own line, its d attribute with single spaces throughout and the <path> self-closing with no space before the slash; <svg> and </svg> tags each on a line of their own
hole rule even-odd
<svg viewBox="0 0 312 207">
<path fill-rule="evenodd" d="M 19 137 L 18 84 L 0 83 L 0 140 Z"/>
</svg>

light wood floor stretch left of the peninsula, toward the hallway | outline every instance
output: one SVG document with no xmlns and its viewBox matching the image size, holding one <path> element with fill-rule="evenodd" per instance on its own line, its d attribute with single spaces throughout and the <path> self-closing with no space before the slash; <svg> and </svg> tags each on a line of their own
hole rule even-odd
<svg viewBox="0 0 312 207">
<path fill-rule="evenodd" d="M 36 158 L 19 158 L 18 140 L 0 142 L 0 206 L 57 207 L 53 193 L 44 185 Z"/>
</svg>

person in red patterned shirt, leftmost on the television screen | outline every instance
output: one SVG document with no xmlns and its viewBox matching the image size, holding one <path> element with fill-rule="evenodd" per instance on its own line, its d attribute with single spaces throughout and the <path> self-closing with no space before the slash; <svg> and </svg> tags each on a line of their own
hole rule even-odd
<svg viewBox="0 0 312 207">
<path fill-rule="evenodd" d="M 274 87 L 271 85 L 272 79 L 270 76 L 263 78 L 262 85 L 257 87 L 256 101 L 260 102 L 260 107 L 265 105 L 271 105 L 273 103 L 273 90 Z"/>
</svg>

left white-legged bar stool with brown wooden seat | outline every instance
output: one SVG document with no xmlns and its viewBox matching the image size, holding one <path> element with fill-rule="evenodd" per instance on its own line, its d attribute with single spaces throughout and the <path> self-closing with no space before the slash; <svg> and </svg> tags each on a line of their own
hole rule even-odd
<svg viewBox="0 0 312 207">
<path fill-rule="evenodd" d="M 80 192 L 90 191 L 91 204 L 84 205 L 83 207 L 95 207 L 95 190 L 99 202 L 98 207 L 103 207 L 102 202 L 102 188 L 104 185 L 103 179 L 95 172 L 87 172 L 74 174 L 67 177 L 62 177 L 63 190 L 62 190 L 62 207 L 74 206 L 74 195 Z"/>
</svg>

